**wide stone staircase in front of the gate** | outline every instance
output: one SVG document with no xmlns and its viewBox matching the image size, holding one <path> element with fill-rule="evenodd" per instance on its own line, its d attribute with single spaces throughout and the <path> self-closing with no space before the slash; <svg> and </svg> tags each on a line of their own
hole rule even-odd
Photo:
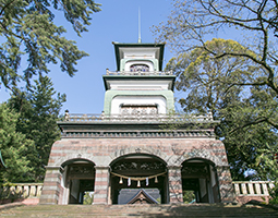
<svg viewBox="0 0 278 218">
<path fill-rule="evenodd" d="M 5 207 L 0 217 L 278 217 L 278 210 L 257 205 L 194 204 L 194 205 L 33 205 Z M 15 206 L 15 205 L 14 205 Z"/>
</svg>

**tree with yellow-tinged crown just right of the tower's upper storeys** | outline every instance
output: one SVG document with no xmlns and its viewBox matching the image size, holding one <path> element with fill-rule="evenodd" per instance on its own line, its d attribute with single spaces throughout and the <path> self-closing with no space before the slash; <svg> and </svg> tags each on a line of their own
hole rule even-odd
<svg viewBox="0 0 278 218">
<path fill-rule="evenodd" d="M 215 52 L 242 49 L 237 41 L 223 39 L 207 41 L 206 47 Z M 249 68 L 245 58 L 211 59 L 211 55 L 202 48 L 172 58 L 166 69 L 172 70 L 178 75 L 177 89 L 188 92 L 188 97 L 179 100 L 184 111 L 198 113 L 211 111 L 214 116 L 225 101 L 239 99 L 242 92 L 241 87 L 222 84 L 222 81 L 245 80 L 256 70 Z"/>
</svg>

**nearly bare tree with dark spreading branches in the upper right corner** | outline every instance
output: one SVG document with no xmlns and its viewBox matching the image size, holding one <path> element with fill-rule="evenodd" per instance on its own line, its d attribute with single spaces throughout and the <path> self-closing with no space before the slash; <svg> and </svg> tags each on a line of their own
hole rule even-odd
<svg viewBox="0 0 278 218">
<path fill-rule="evenodd" d="M 168 21 L 155 31 L 158 40 L 166 40 L 178 52 L 202 48 L 211 55 L 210 59 L 242 57 L 249 60 L 250 68 L 259 68 L 258 74 L 252 74 L 245 80 L 220 82 L 231 87 L 267 87 L 276 94 L 277 98 L 277 8 L 276 0 L 174 1 Z M 240 37 L 242 49 L 221 52 L 211 50 L 205 41 L 215 34 L 220 34 L 221 31 L 231 31 L 229 37 L 233 36 L 234 39 L 242 34 L 243 36 Z M 258 121 L 267 122 L 278 129 L 277 122 L 273 122 L 268 117 L 256 117 L 249 125 Z"/>
</svg>

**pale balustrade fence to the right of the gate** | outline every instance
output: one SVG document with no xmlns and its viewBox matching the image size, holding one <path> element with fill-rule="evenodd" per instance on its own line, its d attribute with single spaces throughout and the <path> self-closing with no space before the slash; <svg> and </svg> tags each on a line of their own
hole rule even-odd
<svg viewBox="0 0 278 218">
<path fill-rule="evenodd" d="M 232 182 L 237 196 L 269 196 L 269 189 L 274 187 L 271 181 L 239 181 Z"/>
</svg>

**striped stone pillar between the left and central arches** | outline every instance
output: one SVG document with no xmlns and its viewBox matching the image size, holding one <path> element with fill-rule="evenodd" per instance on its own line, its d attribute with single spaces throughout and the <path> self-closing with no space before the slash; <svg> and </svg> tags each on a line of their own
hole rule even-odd
<svg viewBox="0 0 278 218">
<path fill-rule="evenodd" d="M 95 167 L 95 193 L 93 204 L 108 204 L 109 167 Z"/>
</svg>

